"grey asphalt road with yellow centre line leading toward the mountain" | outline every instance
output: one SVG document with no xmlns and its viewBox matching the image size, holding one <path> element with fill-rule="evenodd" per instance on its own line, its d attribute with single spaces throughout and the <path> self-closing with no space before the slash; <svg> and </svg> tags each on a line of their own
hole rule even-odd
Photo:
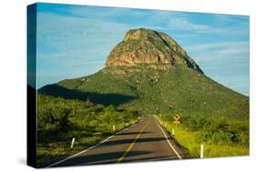
<svg viewBox="0 0 256 171">
<path fill-rule="evenodd" d="M 84 166 L 189 158 L 159 125 L 155 116 L 147 116 L 107 140 L 51 166 Z"/>
</svg>

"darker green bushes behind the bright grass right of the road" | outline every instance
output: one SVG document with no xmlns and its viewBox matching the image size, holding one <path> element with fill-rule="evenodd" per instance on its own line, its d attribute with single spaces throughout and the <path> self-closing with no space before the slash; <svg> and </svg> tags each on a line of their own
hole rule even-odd
<svg viewBox="0 0 256 171">
<path fill-rule="evenodd" d="M 175 115 L 160 115 L 166 122 L 172 122 L 173 116 Z M 200 139 L 207 144 L 249 145 L 249 124 L 245 119 L 188 114 L 181 115 L 180 121 L 189 131 L 197 132 Z"/>
</svg>

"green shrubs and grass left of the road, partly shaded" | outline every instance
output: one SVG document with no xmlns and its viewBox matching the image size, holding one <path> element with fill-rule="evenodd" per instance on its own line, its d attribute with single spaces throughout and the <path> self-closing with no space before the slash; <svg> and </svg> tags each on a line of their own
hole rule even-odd
<svg viewBox="0 0 256 171">
<path fill-rule="evenodd" d="M 92 146 L 140 119 L 137 111 L 95 105 L 89 98 L 83 102 L 37 95 L 37 104 L 38 166 Z M 76 141 L 70 149 L 73 137 Z"/>
</svg>

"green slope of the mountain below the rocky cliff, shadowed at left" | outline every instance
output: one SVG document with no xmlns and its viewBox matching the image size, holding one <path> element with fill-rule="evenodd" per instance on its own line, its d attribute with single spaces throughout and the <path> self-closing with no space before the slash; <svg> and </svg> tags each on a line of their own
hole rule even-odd
<svg viewBox="0 0 256 171">
<path fill-rule="evenodd" d="M 56 84 L 59 85 L 57 88 L 56 85 L 47 85 L 39 92 L 80 100 L 86 100 L 88 96 L 94 103 L 109 105 L 110 102 L 119 108 L 138 110 L 145 115 L 177 112 L 238 118 L 249 116 L 247 96 L 193 70 L 143 69 L 128 75 L 114 75 L 106 72 L 111 69 L 60 81 Z M 61 91 L 63 87 L 70 91 L 67 96 Z"/>
</svg>

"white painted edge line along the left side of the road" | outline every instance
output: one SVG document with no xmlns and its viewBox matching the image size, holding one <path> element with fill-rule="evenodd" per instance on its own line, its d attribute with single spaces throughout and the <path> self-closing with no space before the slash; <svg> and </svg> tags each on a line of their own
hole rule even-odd
<svg viewBox="0 0 256 171">
<path fill-rule="evenodd" d="M 141 121 L 142 121 L 142 120 L 140 120 L 138 123 L 140 123 Z M 132 126 L 129 126 L 129 127 L 125 128 L 125 129 L 119 131 L 118 133 L 115 133 L 115 134 L 112 135 L 112 136 L 108 136 L 108 138 L 104 139 L 103 141 L 100 141 L 100 142 L 99 142 L 97 145 L 95 145 L 95 146 L 90 146 L 90 147 L 88 147 L 87 149 L 85 149 L 85 150 L 83 150 L 83 151 L 80 151 L 80 152 L 78 152 L 77 154 L 75 154 L 75 155 L 73 155 L 73 156 L 68 156 L 67 158 L 64 158 L 63 160 L 60 160 L 60 161 L 58 161 L 58 162 L 56 162 L 56 163 L 53 163 L 53 164 L 51 164 L 51 165 L 49 165 L 49 166 L 46 166 L 45 168 L 49 168 L 49 167 L 52 167 L 52 166 L 56 166 L 56 165 L 58 165 L 58 164 L 61 164 L 61 163 L 65 162 L 65 161 L 69 160 L 70 158 L 73 158 L 73 157 L 75 157 L 75 156 L 79 156 L 79 155 L 81 155 L 81 154 L 83 154 L 83 153 L 86 153 L 87 151 L 89 151 L 89 150 L 91 150 L 91 149 L 93 149 L 93 148 L 95 148 L 95 147 L 97 147 L 97 146 L 100 146 L 101 144 L 107 142 L 110 138 L 112 138 L 112 137 L 114 137 L 114 136 L 117 136 L 118 134 L 120 134 L 120 133 L 122 133 L 122 132 L 128 130 L 129 128 L 131 128 L 131 127 L 133 127 L 133 126 L 138 125 L 138 123 L 136 123 L 136 124 L 134 124 L 134 125 L 132 125 Z"/>
</svg>

